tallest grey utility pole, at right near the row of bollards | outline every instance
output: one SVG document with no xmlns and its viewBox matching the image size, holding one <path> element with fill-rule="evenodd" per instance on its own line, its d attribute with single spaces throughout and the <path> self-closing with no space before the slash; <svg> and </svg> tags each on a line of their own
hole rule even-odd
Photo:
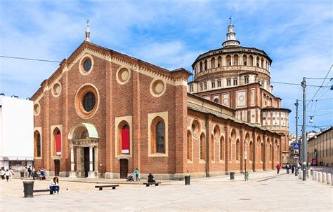
<svg viewBox="0 0 333 212">
<path fill-rule="evenodd" d="M 303 170 L 303 181 L 306 181 L 307 176 L 307 158 L 306 158 L 306 80 L 303 77 L 301 82 L 303 87 L 303 126 L 302 126 L 302 170 Z"/>
</svg>

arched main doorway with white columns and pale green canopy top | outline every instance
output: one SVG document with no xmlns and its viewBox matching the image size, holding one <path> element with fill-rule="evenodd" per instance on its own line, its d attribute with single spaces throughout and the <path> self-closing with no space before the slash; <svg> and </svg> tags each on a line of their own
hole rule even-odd
<svg viewBox="0 0 333 212">
<path fill-rule="evenodd" d="M 74 125 L 68 134 L 70 141 L 70 177 L 96 178 L 98 174 L 98 132 L 94 125 Z"/>
</svg>

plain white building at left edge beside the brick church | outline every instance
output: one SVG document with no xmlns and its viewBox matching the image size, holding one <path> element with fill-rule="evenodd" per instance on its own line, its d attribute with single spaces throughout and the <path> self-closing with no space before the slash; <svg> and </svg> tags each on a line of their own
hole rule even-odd
<svg viewBox="0 0 333 212">
<path fill-rule="evenodd" d="M 33 161 L 33 101 L 0 96 L 0 167 L 21 171 Z"/>
</svg>

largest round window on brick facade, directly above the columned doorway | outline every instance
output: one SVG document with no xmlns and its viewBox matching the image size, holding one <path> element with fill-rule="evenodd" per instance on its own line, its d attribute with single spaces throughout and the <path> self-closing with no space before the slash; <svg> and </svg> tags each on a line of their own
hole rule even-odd
<svg viewBox="0 0 333 212">
<path fill-rule="evenodd" d="M 80 118 L 91 118 L 98 110 L 99 94 L 94 85 L 86 84 L 79 88 L 75 96 L 75 111 Z"/>
</svg>

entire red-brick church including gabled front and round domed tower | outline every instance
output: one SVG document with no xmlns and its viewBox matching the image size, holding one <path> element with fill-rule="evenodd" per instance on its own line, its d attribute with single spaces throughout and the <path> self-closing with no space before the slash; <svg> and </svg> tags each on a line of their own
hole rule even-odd
<svg viewBox="0 0 333 212">
<path fill-rule="evenodd" d="M 275 169 L 288 157 L 289 109 L 270 85 L 272 59 L 222 48 L 192 71 L 167 70 L 86 40 L 32 95 L 34 167 L 72 178 L 157 179 Z M 193 74 L 194 80 L 188 82 Z"/>
</svg>

